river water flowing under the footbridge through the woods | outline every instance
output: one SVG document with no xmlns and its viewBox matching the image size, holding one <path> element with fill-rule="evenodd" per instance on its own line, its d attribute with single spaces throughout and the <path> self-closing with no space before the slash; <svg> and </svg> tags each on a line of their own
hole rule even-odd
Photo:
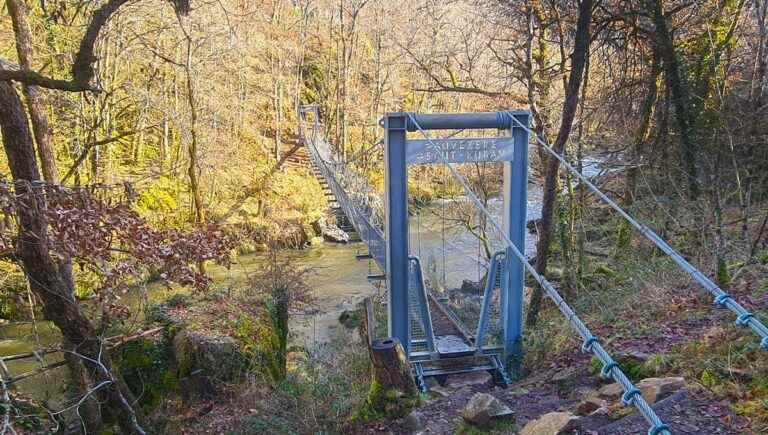
<svg viewBox="0 0 768 435">
<path fill-rule="evenodd" d="M 443 216 L 450 216 L 452 208 L 458 207 L 466 199 L 454 199 L 435 204 L 422 209 L 418 215 L 411 217 L 410 246 L 415 255 L 422 259 L 422 265 L 429 269 L 426 274 L 433 282 L 443 284 L 446 288 L 456 288 L 465 279 L 479 281 L 483 274 L 483 266 L 478 263 L 479 246 L 477 238 L 466 229 L 450 225 L 443 226 Z M 500 222 L 501 201 L 490 201 L 490 210 Z M 446 212 L 446 209 L 448 210 Z M 528 191 L 528 220 L 536 219 L 541 214 L 541 187 L 529 185 Z M 494 250 L 502 246 L 501 240 L 495 237 Z M 534 253 L 535 235 L 526 231 L 526 255 Z M 445 250 L 443 250 L 445 247 Z M 375 266 L 368 261 L 355 259 L 355 254 L 366 252 L 362 243 L 330 244 L 325 243 L 303 251 L 291 252 L 301 266 L 314 270 L 311 285 L 314 289 L 313 307 L 310 314 L 298 315 L 292 318 L 293 344 L 315 346 L 327 342 L 335 334 L 336 328 L 341 328 L 339 315 L 348 309 L 353 309 L 364 297 L 373 294 L 376 289 L 371 285 L 366 275 L 379 273 Z M 445 254 L 443 254 L 445 252 Z M 218 285 L 236 286 L 243 284 L 249 273 L 257 270 L 262 259 L 258 255 L 246 255 L 227 270 L 211 267 L 210 273 Z M 163 300 L 178 290 L 168 290 L 164 286 L 152 286 L 141 297 L 134 296 L 130 305 L 141 305 L 153 300 Z M 15 323 L 0 325 L 0 355 L 7 356 L 34 349 L 53 346 L 59 342 L 59 333 L 48 322 L 37 322 L 36 327 L 31 323 Z M 50 363 L 55 359 L 46 359 Z M 34 360 L 22 360 L 8 363 L 8 369 L 13 375 L 18 375 L 39 367 Z M 61 397 L 65 386 L 66 369 L 60 368 L 49 372 L 46 376 L 34 376 L 17 384 L 20 392 L 31 395 L 38 400 Z"/>
</svg>

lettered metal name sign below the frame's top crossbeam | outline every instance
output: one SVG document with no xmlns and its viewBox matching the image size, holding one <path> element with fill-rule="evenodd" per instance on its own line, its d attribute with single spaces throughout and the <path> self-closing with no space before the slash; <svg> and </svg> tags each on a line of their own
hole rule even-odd
<svg viewBox="0 0 768 435">
<path fill-rule="evenodd" d="M 449 163 L 511 162 L 515 152 L 515 141 L 511 137 L 408 140 L 406 162 L 409 165 L 442 162 L 435 145 Z"/>
</svg>

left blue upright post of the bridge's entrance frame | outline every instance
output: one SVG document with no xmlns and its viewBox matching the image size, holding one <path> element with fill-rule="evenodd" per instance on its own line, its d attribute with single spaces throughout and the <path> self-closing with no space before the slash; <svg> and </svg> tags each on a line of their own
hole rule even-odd
<svg viewBox="0 0 768 435">
<path fill-rule="evenodd" d="M 410 352 L 408 321 L 408 169 L 405 158 L 407 115 L 384 117 L 384 189 L 386 200 L 386 276 L 389 291 L 389 336 Z"/>
</svg>

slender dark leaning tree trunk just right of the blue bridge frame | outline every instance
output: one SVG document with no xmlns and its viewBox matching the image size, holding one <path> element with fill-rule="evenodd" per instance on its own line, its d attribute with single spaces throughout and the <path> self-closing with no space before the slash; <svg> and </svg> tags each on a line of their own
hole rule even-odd
<svg viewBox="0 0 768 435">
<path fill-rule="evenodd" d="M 593 0 L 582 0 L 579 3 L 579 19 L 576 23 L 576 38 L 573 47 L 573 56 L 571 57 L 571 72 L 568 77 L 568 87 L 565 89 L 565 102 L 563 103 L 563 117 L 560 124 L 560 130 L 557 133 L 557 139 L 552 146 L 555 152 L 562 154 L 565 149 L 565 143 L 571 133 L 573 118 L 579 104 L 579 89 L 584 75 L 587 61 L 587 51 L 590 43 L 590 23 L 592 21 L 592 2 Z M 544 198 L 541 208 L 541 226 L 539 232 L 539 242 L 536 246 L 536 271 L 544 274 L 547 270 L 547 261 L 549 259 L 549 244 L 552 239 L 552 218 L 556 207 L 558 179 L 557 173 L 560 168 L 560 161 L 554 157 L 549 157 L 546 164 L 544 178 Z M 541 287 L 534 287 L 531 294 L 531 303 L 528 307 L 526 324 L 529 327 L 536 325 L 541 308 L 542 298 Z"/>
</svg>

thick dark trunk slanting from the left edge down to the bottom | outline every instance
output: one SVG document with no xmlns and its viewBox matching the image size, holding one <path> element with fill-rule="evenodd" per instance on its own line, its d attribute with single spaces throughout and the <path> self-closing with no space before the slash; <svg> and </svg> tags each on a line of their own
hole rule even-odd
<svg viewBox="0 0 768 435">
<path fill-rule="evenodd" d="M 46 318 L 83 357 L 88 377 L 97 385 L 93 389 L 95 397 L 117 418 L 125 433 L 144 434 L 140 417 L 131 406 L 134 398 L 120 377 L 113 373 L 109 352 L 99 340 L 98 331 L 71 299 L 65 273 L 51 256 L 48 222 L 42 212 L 45 204 L 42 197 L 31 190 L 31 183 L 40 181 L 32 136 L 21 100 L 7 81 L 0 82 L 0 131 L 21 201 L 17 211 L 17 251 L 30 288 L 42 302 Z"/>
</svg>

